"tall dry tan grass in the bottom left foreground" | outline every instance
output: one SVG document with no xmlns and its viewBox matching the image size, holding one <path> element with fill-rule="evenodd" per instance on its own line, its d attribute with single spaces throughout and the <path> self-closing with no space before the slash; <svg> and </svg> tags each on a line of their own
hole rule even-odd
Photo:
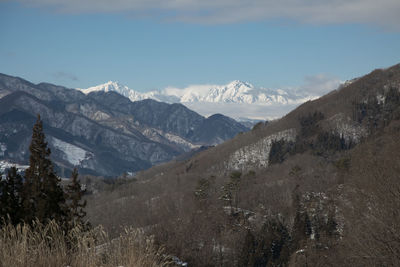
<svg viewBox="0 0 400 267">
<path fill-rule="evenodd" d="M 171 265 L 162 249 L 131 228 L 113 240 L 101 227 L 84 231 L 77 226 L 64 234 L 55 222 L 0 229 L 0 267 Z"/>
</svg>

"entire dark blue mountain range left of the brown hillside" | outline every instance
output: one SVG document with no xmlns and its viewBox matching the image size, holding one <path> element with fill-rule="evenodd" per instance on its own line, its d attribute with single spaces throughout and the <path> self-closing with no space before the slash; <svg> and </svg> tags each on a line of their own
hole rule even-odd
<svg viewBox="0 0 400 267">
<path fill-rule="evenodd" d="M 223 115 L 205 118 L 181 104 L 131 102 L 115 92 L 85 95 L 0 74 L 0 160 L 27 162 L 37 114 L 64 176 L 74 166 L 104 176 L 136 172 L 248 130 Z"/>
</svg>

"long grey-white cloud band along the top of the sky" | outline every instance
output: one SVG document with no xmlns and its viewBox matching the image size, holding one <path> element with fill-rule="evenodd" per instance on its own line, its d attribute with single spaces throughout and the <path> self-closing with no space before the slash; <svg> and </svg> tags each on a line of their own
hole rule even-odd
<svg viewBox="0 0 400 267">
<path fill-rule="evenodd" d="M 400 29 L 399 0 L 15 0 L 66 13 L 126 13 L 195 23 L 291 19 Z"/>
</svg>

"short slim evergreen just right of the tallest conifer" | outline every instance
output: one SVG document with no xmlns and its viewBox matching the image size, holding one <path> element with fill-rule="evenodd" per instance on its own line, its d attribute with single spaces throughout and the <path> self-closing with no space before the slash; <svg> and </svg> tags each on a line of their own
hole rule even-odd
<svg viewBox="0 0 400 267">
<path fill-rule="evenodd" d="M 82 201 L 85 190 L 78 180 L 78 171 L 74 168 L 71 175 L 71 182 L 66 188 L 67 206 L 69 210 L 69 222 L 76 224 L 84 224 L 83 218 L 86 216 L 84 208 L 86 207 L 86 200 Z"/>
</svg>

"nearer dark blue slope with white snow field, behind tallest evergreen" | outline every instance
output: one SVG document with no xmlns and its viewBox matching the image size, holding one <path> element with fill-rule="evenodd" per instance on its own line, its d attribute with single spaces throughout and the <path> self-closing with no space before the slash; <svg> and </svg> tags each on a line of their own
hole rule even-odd
<svg viewBox="0 0 400 267">
<path fill-rule="evenodd" d="M 41 114 L 53 158 L 60 166 L 76 164 L 91 169 L 92 173 L 112 174 L 121 168 L 143 169 L 179 153 L 148 140 L 140 133 L 118 132 L 24 92 L 7 95 L 0 99 L 0 105 L 2 141 L 6 145 L 9 140 L 20 144 L 16 150 L 12 150 L 15 146 L 7 145 L 6 156 L 13 159 L 27 160 L 34 114 Z"/>
</svg>

